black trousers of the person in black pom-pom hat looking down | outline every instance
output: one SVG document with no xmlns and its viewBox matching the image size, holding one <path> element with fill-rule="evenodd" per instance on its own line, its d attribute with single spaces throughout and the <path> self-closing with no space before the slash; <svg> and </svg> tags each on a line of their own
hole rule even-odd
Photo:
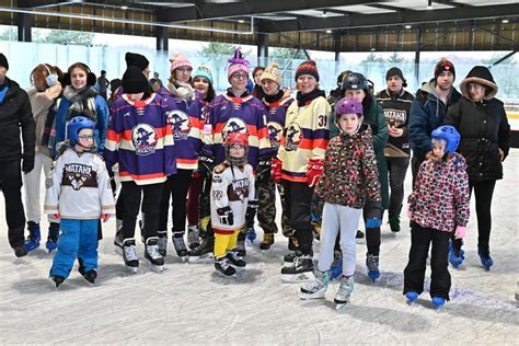
<svg viewBox="0 0 519 346">
<path fill-rule="evenodd" d="M 145 214 L 145 239 L 157 237 L 162 184 L 137 185 L 134 182 L 123 182 L 122 185 L 122 192 L 125 196 L 125 211 L 123 216 L 124 239 L 135 237 L 135 223 L 141 199 L 142 212 Z"/>
</svg>

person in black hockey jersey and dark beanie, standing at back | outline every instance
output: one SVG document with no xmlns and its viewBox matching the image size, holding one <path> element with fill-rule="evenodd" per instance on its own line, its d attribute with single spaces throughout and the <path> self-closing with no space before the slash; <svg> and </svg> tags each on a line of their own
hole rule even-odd
<svg viewBox="0 0 519 346">
<path fill-rule="evenodd" d="M 389 224 L 391 231 L 400 232 L 400 212 L 404 200 L 405 173 L 410 165 L 410 111 L 415 99 L 405 91 L 407 81 L 402 70 L 393 67 L 385 73 L 388 88 L 377 94 L 377 101 L 382 106 L 385 123 L 389 128 L 389 139 L 385 145 L 385 162 L 389 171 L 391 188 L 389 206 Z"/>
</svg>

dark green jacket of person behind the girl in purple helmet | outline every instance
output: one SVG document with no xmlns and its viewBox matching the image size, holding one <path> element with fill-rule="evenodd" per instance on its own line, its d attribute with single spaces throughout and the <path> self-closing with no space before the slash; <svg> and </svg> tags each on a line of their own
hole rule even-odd
<svg viewBox="0 0 519 346">
<path fill-rule="evenodd" d="M 382 208 L 389 208 L 389 183 L 388 183 L 388 165 L 385 163 L 385 145 L 389 139 L 389 129 L 385 124 L 384 111 L 378 104 L 373 96 L 371 97 L 371 104 L 368 109 L 364 112 L 364 124 L 368 124 L 371 127 L 373 134 L 373 149 L 377 158 L 377 168 L 379 169 L 380 178 L 380 194 L 382 195 Z M 330 139 L 339 135 L 336 118 L 330 122 Z"/>
</svg>

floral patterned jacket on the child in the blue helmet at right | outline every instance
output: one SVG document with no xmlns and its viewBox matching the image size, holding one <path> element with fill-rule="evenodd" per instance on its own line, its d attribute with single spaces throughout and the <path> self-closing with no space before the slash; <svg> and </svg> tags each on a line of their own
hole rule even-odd
<svg viewBox="0 0 519 346">
<path fill-rule="evenodd" d="M 457 226 L 466 227 L 470 193 L 465 159 L 457 152 L 447 161 L 435 159 L 431 153 L 426 158 L 408 197 L 411 220 L 445 232 L 454 231 Z"/>
</svg>

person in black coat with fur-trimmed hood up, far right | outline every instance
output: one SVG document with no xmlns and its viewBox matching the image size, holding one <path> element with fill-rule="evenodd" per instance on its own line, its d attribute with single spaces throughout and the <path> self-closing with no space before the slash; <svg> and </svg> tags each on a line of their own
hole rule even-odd
<svg viewBox="0 0 519 346">
<path fill-rule="evenodd" d="M 469 186 L 475 196 L 477 254 L 488 270 L 494 264 L 489 251 L 492 196 L 496 181 L 503 178 L 510 125 L 503 102 L 494 97 L 498 88 L 486 67 L 474 67 L 461 81 L 460 90 L 463 97 L 449 108 L 445 124 L 454 126 L 461 135 L 458 152 L 466 160 Z M 462 241 L 454 239 L 449 256 L 454 267 L 463 262 L 461 246 Z"/>
</svg>

